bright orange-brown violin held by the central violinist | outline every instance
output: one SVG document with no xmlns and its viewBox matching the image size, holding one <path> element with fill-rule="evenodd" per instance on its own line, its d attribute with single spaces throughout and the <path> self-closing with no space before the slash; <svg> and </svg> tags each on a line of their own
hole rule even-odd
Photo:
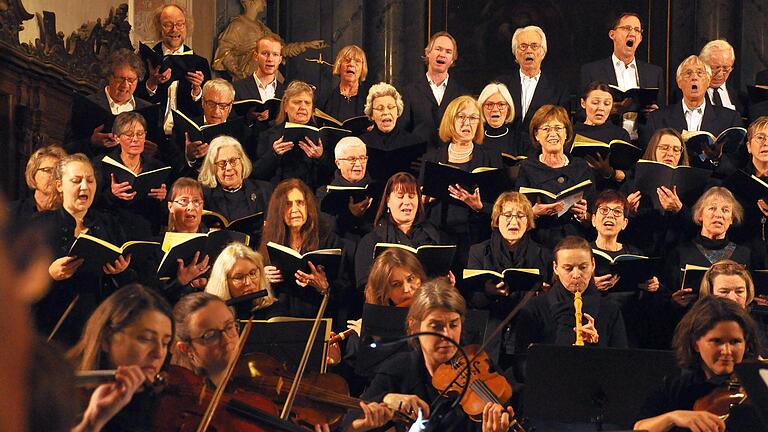
<svg viewBox="0 0 768 432">
<path fill-rule="evenodd" d="M 470 358 L 469 367 L 466 367 L 463 356 L 456 356 L 440 365 L 432 375 L 432 386 L 443 394 L 461 394 L 461 390 L 468 387 L 461 407 L 475 422 L 483 420 L 483 408 L 488 402 L 504 405 L 512 397 L 512 386 L 501 374 L 491 370 L 488 354 L 478 348 L 477 345 L 464 348 Z M 459 373 L 461 375 L 456 378 Z M 509 430 L 525 432 L 514 418 L 509 420 Z"/>
</svg>

